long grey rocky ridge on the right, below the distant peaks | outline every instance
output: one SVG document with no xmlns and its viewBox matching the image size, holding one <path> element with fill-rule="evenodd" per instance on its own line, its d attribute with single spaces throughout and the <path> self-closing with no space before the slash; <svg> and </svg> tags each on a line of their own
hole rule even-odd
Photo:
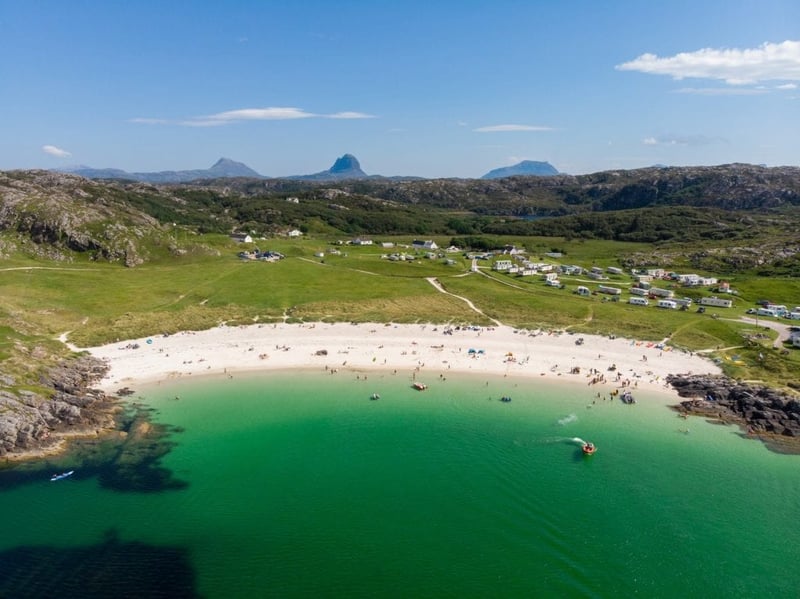
<svg viewBox="0 0 800 599">
<path fill-rule="evenodd" d="M 749 164 L 604 171 L 591 175 L 502 179 L 385 178 L 212 181 L 242 195 L 298 191 L 320 185 L 376 199 L 497 216 L 564 216 L 650 207 L 689 206 L 770 211 L 800 206 L 800 168 Z"/>
</svg>

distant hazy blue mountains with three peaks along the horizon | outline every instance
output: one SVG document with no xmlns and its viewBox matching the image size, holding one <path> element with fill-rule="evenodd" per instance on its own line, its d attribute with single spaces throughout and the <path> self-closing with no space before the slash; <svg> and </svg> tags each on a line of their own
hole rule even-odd
<svg viewBox="0 0 800 599">
<path fill-rule="evenodd" d="M 249 179 L 269 179 L 257 173 L 242 162 L 230 158 L 220 158 L 211 168 L 191 169 L 182 171 L 157 171 L 157 172 L 128 172 L 117 168 L 93 168 L 90 166 L 76 166 L 62 169 L 62 172 L 80 175 L 87 179 L 121 179 L 126 181 L 139 181 L 142 183 L 188 183 L 204 179 L 225 179 L 246 177 Z M 559 172 L 548 162 L 523 160 L 519 164 L 489 171 L 482 179 L 500 179 L 520 175 L 552 176 Z M 422 177 L 368 175 L 361 169 L 358 159 L 352 154 L 344 154 L 336 159 L 333 166 L 325 171 L 311 175 L 290 175 L 280 177 L 292 181 L 346 181 L 351 179 L 389 179 L 394 181 L 413 181 Z"/>
</svg>

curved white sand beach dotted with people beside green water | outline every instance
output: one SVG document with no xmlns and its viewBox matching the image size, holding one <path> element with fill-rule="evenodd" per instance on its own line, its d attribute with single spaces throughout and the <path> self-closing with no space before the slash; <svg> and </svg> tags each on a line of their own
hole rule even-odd
<svg viewBox="0 0 800 599">
<path fill-rule="evenodd" d="M 627 384 L 674 398 L 676 394 L 665 386 L 668 374 L 720 372 L 711 361 L 669 345 L 505 326 L 220 326 L 112 343 L 88 351 L 111 367 L 101 383 L 109 392 L 182 377 L 315 369 L 333 375 L 396 371 L 427 383 L 456 373 L 546 377 L 552 382 L 566 377 L 571 382 L 596 386 L 593 393 L 609 393 Z"/>
</svg>

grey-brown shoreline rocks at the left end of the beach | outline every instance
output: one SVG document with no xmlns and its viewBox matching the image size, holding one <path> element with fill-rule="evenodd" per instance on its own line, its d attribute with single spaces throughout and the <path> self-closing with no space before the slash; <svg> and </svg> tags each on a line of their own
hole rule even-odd
<svg viewBox="0 0 800 599">
<path fill-rule="evenodd" d="M 82 356 L 44 376 L 42 383 L 53 389 L 50 397 L 0 389 L 0 456 L 46 450 L 61 437 L 113 426 L 116 403 L 91 388 L 107 371 L 102 361 Z M 4 376 L 2 383 L 14 381 Z"/>
</svg>

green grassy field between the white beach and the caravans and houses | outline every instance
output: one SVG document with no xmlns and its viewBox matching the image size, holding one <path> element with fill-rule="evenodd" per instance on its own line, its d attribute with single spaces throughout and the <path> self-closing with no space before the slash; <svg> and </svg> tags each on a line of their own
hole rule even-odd
<svg viewBox="0 0 800 599">
<path fill-rule="evenodd" d="M 70 341 L 86 347 L 199 330 L 223 322 L 486 325 L 497 320 L 518 328 L 564 329 L 649 341 L 669 338 L 678 347 L 718 355 L 734 376 L 780 386 L 798 382 L 800 351 L 773 350 L 774 333 L 770 337 L 759 328 L 754 334 L 752 324 L 738 321 L 757 299 L 800 304 L 800 281 L 796 279 L 738 274 L 732 279 L 739 291 L 735 307 L 699 314 L 694 308 L 678 311 L 629 305 L 627 288 L 632 279 L 626 275 L 615 275 L 607 283 L 625 290 L 614 302 L 604 295 L 579 297 L 572 293 L 578 285 L 596 288 L 596 282 L 581 277 L 562 277 L 565 288 L 559 289 L 545 286 L 540 276 L 521 278 L 493 272 L 488 261 L 478 263 L 480 272 L 471 272 L 471 260 L 460 253 L 428 259 L 425 253 L 408 248 L 335 245 L 335 239 L 324 238 L 260 240 L 249 246 L 286 256 L 268 263 L 239 259 L 237 253 L 245 246 L 223 236 L 195 236 L 187 241 L 204 250 L 180 257 L 159 256 L 136 268 L 90 262 L 80 256 L 59 263 L 19 257 L 4 260 L 0 264 L 0 360 L 5 370 L 24 372 L 34 362 L 32 355 L 46 362 L 46 358 L 63 353 L 63 346 L 54 339 L 65 332 Z M 391 241 L 409 243 L 411 239 Z M 437 240 L 441 244 L 447 241 Z M 559 250 L 565 255 L 557 262 L 584 267 L 616 266 L 625 255 L 646 247 L 547 238 L 515 238 L 508 243 L 524 243 L 531 258 L 541 261 L 552 262 L 544 254 Z M 385 257 L 394 252 L 406 252 L 416 259 L 390 261 Z M 429 278 L 436 278 L 448 294 L 439 292 L 426 280 Z M 469 299 L 480 312 L 454 295 Z M 710 293 L 679 289 L 677 295 L 698 299 Z"/>
</svg>

